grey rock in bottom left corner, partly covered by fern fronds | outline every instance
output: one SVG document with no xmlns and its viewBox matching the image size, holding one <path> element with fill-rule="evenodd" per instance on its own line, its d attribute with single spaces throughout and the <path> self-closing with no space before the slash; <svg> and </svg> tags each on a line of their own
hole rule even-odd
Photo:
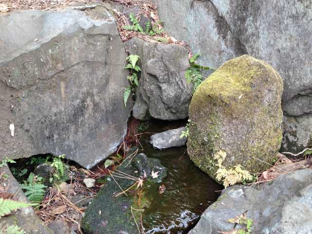
<svg viewBox="0 0 312 234">
<path fill-rule="evenodd" d="M 0 168 L 0 174 L 2 175 L 2 173 L 8 176 L 7 180 L 2 180 L 3 183 L 0 182 L 0 186 L 4 188 L 6 193 L 14 195 L 14 199 L 17 201 L 29 203 L 27 197 L 20 188 L 19 182 L 14 178 L 8 166 Z M 53 231 L 45 226 L 32 207 L 21 208 L 12 215 L 1 217 L 0 233 L 4 232 L 4 230 L 11 225 L 19 226 L 25 233 L 53 234 Z"/>
</svg>

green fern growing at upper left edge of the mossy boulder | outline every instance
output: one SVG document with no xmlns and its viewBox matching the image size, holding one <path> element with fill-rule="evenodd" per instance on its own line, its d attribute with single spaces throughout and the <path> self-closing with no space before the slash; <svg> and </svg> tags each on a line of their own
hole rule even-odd
<svg viewBox="0 0 312 234">
<path fill-rule="evenodd" d="M 200 54 L 194 55 L 190 60 L 190 67 L 185 72 L 185 78 L 187 78 L 188 83 L 192 83 L 194 86 L 194 89 L 192 93 L 195 93 L 195 90 L 197 87 L 203 82 L 203 76 L 202 71 L 204 70 L 212 70 L 215 71 L 215 69 L 211 67 L 205 67 L 197 64 L 196 59 L 200 56 Z"/>
</svg>

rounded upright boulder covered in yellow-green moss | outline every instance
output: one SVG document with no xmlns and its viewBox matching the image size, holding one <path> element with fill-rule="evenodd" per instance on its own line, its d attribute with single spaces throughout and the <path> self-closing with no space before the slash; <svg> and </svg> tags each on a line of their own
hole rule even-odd
<svg viewBox="0 0 312 234">
<path fill-rule="evenodd" d="M 219 183 L 220 164 L 249 173 L 270 167 L 282 140 L 282 92 L 282 78 L 263 60 L 244 55 L 224 63 L 190 105 L 187 145 L 195 165 Z"/>
</svg>

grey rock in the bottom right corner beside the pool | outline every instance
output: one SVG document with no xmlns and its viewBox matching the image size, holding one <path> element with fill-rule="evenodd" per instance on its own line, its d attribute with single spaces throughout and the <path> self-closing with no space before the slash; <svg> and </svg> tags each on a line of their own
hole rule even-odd
<svg viewBox="0 0 312 234">
<path fill-rule="evenodd" d="M 190 234 L 215 234 L 244 228 L 227 222 L 246 212 L 252 233 L 310 234 L 312 230 L 312 170 L 278 176 L 259 186 L 233 186 L 201 216 Z"/>
</svg>

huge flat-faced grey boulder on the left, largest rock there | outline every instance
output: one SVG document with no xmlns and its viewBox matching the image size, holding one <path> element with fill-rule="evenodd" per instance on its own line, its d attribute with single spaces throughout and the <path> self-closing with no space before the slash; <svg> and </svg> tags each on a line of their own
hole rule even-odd
<svg viewBox="0 0 312 234">
<path fill-rule="evenodd" d="M 65 154 L 90 168 L 126 134 L 124 46 L 96 7 L 0 16 L 0 160 Z M 9 124 L 15 125 L 11 137 Z"/>
</svg>

